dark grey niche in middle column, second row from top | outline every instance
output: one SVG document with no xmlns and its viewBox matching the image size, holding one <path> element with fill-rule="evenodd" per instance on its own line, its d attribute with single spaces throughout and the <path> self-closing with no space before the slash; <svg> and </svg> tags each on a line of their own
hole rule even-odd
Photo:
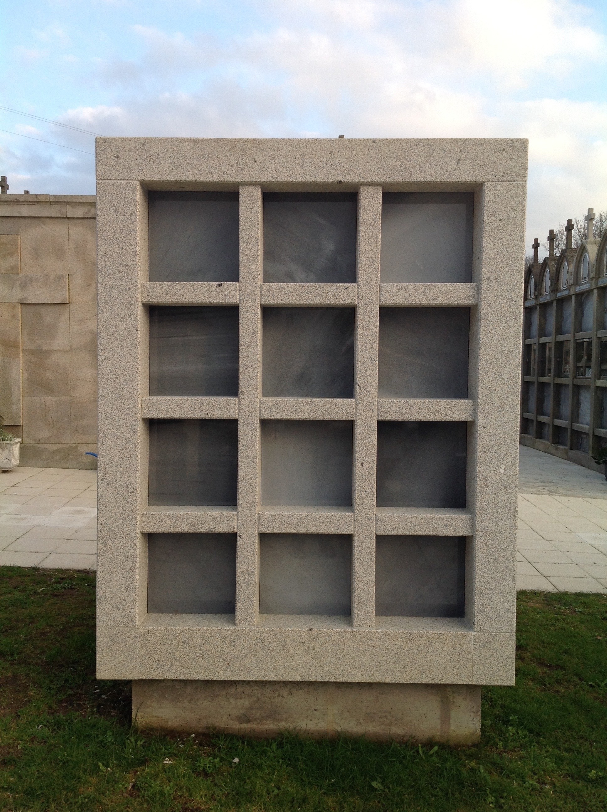
<svg viewBox="0 0 607 812">
<path fill-rule="evenodd" d="M 354 309 L 263 309 L 262 395 L 353 398 Z"/>
</svg>

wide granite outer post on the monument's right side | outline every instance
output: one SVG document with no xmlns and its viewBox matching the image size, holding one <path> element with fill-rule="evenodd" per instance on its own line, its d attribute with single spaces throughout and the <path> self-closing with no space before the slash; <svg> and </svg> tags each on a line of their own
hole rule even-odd
<svg viewBox="0 0 607 812">
<path fill-rule="evenodd" d="M 475 195 L 475 224 L 481 228 L 473 278 L 479 285 L 479 304 L 470 330 L 475 342 L 470 382 L 477 417 L 469 424 L 466 460 L 467 506 L 475 513 L 475 536 L 466 561 L 473 566 L 466 572 L 466 619 L 475 632 L 504 635 L 503 646 L 514 646 L 516 612 L 525 197 L 526 184 L 521 182 L 483 184 Z M 504 333 L 504 323 L 513 329 Z M 514 661 L 511 664 L 514 669 Z"/>
</svg>

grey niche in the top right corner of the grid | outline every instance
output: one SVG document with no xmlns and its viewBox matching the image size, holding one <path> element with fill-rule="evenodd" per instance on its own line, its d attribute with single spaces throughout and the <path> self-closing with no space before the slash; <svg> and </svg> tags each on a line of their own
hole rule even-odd
<svg viewBox="0 0 607 812">
<path fill-rule="evenodd" d="M 470 282 L 473 213 L 468 192 L 384 193 L 380 281 Z"/>
</svg>

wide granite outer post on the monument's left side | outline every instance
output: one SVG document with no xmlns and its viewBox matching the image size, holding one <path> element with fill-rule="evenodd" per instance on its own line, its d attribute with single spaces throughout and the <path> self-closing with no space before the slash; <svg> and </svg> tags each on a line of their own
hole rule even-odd
<svg viewBox="0 0 607 812">
<path fill-rule="evenodd" d="M 147 200 L 137 181 L 98 182 L 98 634 L 145 615 L 146 431 L 141 357 L 147 330 L 140 282 L 147 268 Z M 102 649 L 103 646 L 100 646 Z"/>
</svg>

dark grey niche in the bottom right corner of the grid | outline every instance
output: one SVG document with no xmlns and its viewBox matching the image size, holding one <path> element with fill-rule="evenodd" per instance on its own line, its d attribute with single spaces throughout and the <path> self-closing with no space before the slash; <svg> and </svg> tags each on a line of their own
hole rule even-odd
<svg viewBox="0 0 607 812">
<path fill-rule="evenodd" d="M 377 536 L 375 615 L 463 617 L 466 539 Z"/>
</svg>

